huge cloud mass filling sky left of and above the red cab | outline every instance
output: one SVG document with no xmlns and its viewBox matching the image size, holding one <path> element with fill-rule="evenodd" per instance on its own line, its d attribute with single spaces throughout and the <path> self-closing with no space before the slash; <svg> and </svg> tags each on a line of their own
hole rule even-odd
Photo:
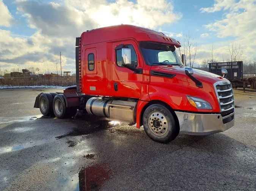
<svg viewBox="0 0 256 191">
<path fill-rule="evenodd" d="M 1 0 L 0 0 L 1 1 Z M 66 68 L 75 70 L 75 37 L 83 31 L 118 24 L 132 24 L 155 29 L 177 22 L 182 14 L 174 12 L 166 0 L 16 0 L 17 13 L 26 18 L 28 26 L 36 29 L 27 37 L 0 30 L 0 66 L 52 65 L 59 54 L 66 56 Z M 172 33 L 181 36 L 182 33 Z M 167 34 L 167 35 L 171 35 Z"/>
</svg>

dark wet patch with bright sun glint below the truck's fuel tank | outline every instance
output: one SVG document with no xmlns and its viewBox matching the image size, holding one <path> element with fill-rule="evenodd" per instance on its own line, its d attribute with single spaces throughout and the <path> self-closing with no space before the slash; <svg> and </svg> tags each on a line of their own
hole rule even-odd
<svg viewBox="0 0 256 191">
<path fill-rule="evenodd" d="M 78 111 L 78 113 L 82 113 L 82 112 Z M 76 115 L 75 118 L 71 118 L 69 119 L 69 121 L 71 123 L 76 124 L 77 127 L 73 128 L 73 130 L 68 134 L 55 137 L 56 139 L 62 139 L 68 136 L 87 135 L 92 132 L 101 131 L 102 129 L 114 127 L 119 124 L 119 122 L 114 122 L 114 121 L 110 122 L 108 120 L 105 120 L 102 117 L 91 116 L 88 114 L 82 114 L 82 116 L 80 114 L 78 116 Z"/>
</svg>

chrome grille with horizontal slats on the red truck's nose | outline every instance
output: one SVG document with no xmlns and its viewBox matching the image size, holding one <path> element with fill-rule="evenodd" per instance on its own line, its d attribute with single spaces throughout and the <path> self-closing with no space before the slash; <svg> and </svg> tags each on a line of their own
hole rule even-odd
<svg viewBox="0 0 256 191">
<path fill-rule="evenodd" d="M 232 85 L 229 81 L 223 80 L 214 83 L 214 87 L 218 97 L 221 116 L 228 116 L 234 112 L 235 108 Z"/>
</svg>

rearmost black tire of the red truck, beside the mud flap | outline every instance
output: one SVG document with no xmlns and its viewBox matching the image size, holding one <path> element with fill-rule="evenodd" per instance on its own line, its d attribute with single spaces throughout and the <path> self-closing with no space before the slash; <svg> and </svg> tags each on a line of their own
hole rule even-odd
<svg viewBox="0 0 256 191">
<path fill-rule="evenodd" d="M 39 109 L 44 116 L 53 115 L 53 98 L 49 93 L 43 93 L 39 97 Z"/>
</svg>

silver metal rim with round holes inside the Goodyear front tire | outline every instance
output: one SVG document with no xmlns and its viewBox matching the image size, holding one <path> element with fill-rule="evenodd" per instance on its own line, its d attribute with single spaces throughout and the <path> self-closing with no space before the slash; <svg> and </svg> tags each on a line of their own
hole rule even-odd
<svg viewBox="0 0 256 191">
<path fill-rule="evenodd" d="M 157 136 L 162 136 L 167 132 L 168 122 L 161 112 L 154 112 L 148 118 L 149 129 Z"/>
</svg>

